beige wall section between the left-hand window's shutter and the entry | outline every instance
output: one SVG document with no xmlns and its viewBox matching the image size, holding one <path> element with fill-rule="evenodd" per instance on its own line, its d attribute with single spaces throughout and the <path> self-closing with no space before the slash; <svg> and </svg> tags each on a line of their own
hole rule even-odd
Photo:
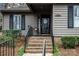
<svg viewBox="0 0 79 59">
<path fill-rule="evenodd" d="M 37 16 L 33 14 L 27 14 L 25 16 L 25 30 L 22 31 L 23 35 L 26 35 L 28 32 L 28 25 L 31 25 L 33 28 L 37 27 Z"/>
</svg>

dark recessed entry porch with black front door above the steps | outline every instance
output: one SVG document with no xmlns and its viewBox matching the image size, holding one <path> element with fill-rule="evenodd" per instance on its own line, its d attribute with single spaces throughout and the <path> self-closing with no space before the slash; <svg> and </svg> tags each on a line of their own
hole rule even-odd
<svg viewBox="0 0 79 59">
<path fill-rule="evenodd" d="M 34 35 L 52 34 L 52 4 L 27 4 L 36 15 L 37 26 L 33 28 Z M 30 25 L 29 25 L 30 26 Z M 31 26 L 32 27 L 32 26 Z"/>
</svg>

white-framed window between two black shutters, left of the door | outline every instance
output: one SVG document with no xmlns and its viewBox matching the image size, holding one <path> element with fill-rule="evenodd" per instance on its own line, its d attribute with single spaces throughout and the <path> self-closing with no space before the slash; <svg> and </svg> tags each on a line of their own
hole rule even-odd
<svg viewBox="0 0 79 59">
<path fill-rule="evenodd" d="M 21 29 L 21 15 L 14 15 L 14 17 L 13 17 L 13 29 L 14 30 Z"/>
</svg>

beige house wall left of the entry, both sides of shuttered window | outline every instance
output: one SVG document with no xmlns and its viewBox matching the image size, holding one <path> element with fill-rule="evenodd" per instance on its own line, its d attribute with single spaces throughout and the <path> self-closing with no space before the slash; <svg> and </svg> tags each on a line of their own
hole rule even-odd
<svg viewBox="0 0 79 59">
<path fill-rule="evenodd" d="M 3 18 L 3 30 L 9 30 L 9 14 L 4 14 Z M 37 17 L 33 14 L 25 15 L 25 30 L 22 30 L 22 35 L 26 35 L 28 31 L 28 25 L 33 28 L 37 27 Z"/>
</svg>

